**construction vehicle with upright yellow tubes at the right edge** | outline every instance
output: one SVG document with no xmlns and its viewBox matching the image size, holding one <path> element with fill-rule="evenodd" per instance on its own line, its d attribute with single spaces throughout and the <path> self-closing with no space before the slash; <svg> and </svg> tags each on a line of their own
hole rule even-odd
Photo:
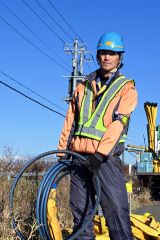
<svg viewBox="0 0 160 240">
<path fill-rule="evenodd" d="M 140 187 L 149 187 L 155 200 L 160 199 L 160 125 L 156 126 L 157 106 L 157 103 L 144 103 L 148 120 L 148 146 L 126 147 L 127 151 L 137 154 L 135 175 Z"/>
</svg>

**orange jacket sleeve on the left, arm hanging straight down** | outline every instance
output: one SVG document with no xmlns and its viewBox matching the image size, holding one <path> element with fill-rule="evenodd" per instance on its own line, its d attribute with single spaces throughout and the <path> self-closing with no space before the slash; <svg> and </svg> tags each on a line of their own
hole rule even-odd
<svg viewBox="0 0 160 240">
<path fill-rule="evenodd" d="M 69 104 L 69 108 L 64 121 L 64 126 L 60 135 L 58 150 L 68 149 L 72 132 L 74 131 L 75 119 L 75 94 Z"/>
</svg>

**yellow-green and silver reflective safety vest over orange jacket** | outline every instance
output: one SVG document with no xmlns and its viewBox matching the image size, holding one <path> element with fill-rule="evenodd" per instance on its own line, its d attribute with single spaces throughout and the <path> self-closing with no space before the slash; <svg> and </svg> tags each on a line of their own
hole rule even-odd
<svg viewBox="0 0 160 240">
<path fill-rule="evenodd" d="M 131 81 L 133 80 L 129 80 L 124 76 L 115 79 L 109 88 L 105 90 L 95 111 L 92 113 L 93 89 L 90 82 L 87 80 L 80 109 L 80 118 L 74 135 L 100 141 L 104 133 L 107 131 L 107 128 L 103 124 L 103 116 L 109 103 L 118 91 L 120 91 L 127 82 Z M 125 142 L 125 138 L 126 134 L 123 134 L 119 142 Z"/>
</svg>

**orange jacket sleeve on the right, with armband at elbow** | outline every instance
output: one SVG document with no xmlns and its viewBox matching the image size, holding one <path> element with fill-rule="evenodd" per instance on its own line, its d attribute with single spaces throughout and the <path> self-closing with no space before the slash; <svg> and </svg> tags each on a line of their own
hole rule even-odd
<svg viewBox="0 0 160 240">
<path fill-rule="evenodd" d="M 137 91 L 133 83 L 129 82 L 126 85 L 127 86 L 124 86 L 122 89 L 121 100 L 117 112 L 129 117 L 137 105 Z M 123 129 L 124 126 L 121 121 L 112 121 L 99 143 L 97 152 L 105 156 L 112 155 L 121 138 Z"/>
</svg>

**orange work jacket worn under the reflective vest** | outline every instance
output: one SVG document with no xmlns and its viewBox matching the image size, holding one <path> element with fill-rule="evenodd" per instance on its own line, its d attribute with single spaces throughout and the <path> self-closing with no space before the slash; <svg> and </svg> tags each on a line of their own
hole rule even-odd
<svg viewBox="0 0 160 240">
<path fill-rule="evenodd" d="M 117 76 L 118 75 L 118 76 Z M 116 74 L 119 77 L 120 74 Z M 87 76 L 93 88 L 93 103 L 92 109 L 95 109 L 97 71 Z M 95 152 L 103 155 L 113 154 L 116 144 L 124 130 L 124 125 L 119 120 L 114 120 L 114 112 L 130 116 L 137 104 L 137 91 L 134 82 L 127 82 L 114 96 L 109 103 L 103 117 L 103 124 L 107 128 L 100 141 L 83 136 L 74 136 L 76 125 L 79 121 L 79 113 L 81 103 L 84 96 L 86 81 L 80 83 L 74 93 L 74 96 L 69 104 L 68 112 L 65 118 L 64 126 L 59 140 L 58 149 L 69 149 L 79 153 L 92 154 Z"/>
</svg>

